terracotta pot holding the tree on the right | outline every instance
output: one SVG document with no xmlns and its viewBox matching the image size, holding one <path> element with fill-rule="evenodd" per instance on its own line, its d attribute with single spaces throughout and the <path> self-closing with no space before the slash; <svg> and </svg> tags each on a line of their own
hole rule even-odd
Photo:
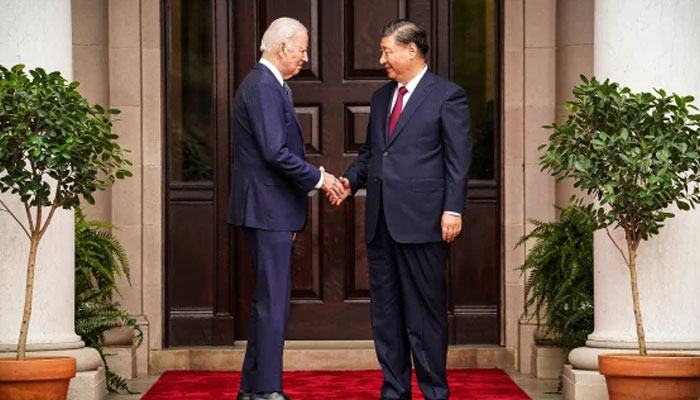
<svg viewBox="0 0 700 400">
<path fill-rule="evenodd" d="M 610 400 L 698 400 L 700 356 L 601 354 Z"/>
</svg>

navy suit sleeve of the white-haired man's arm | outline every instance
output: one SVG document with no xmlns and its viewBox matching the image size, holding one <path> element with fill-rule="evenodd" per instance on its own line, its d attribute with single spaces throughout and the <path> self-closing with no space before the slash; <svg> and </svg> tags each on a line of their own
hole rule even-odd
<svg viewBox="0 0 700 400">
<path fill-rule="evenodd" d="M 273 84 L 258 84 L 250 96 L 249 113 L 265 162 L 292 179 L 302 190 L 313 189 L 321 171 L 287 148 L 287 128 L 284 124 L 284 98 Z"/>
</svg>

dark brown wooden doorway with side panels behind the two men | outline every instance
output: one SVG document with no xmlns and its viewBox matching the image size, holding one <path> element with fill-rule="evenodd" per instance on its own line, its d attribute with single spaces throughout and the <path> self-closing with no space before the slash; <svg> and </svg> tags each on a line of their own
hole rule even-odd
<svg viewBox="0 0 700 400">
<path fill-rule="evenodd" d="M 482 171 L 470 179 L 464 234 L 451 246 L 445 290 L 451 343 L 499 344 L 499 7 L 496 1 L 469 1 L 474 4 L 467 9 L 482 13 L 470 17 L 482 20 L 485 28 L 478 30 L 495 32 L 495 50 L 482 49 L 488 53 L 483 57 L 493 59 L 481 62 L 474 69 L 481 77 L 471 80 L 493 82 L 482 82 L 492 87 L 490 99 L 483 90 L 477 111 L 483 126 L 475 127 L 483 136 L 475 140 L 475 168 Z M 452 78 L 459 75 L 453 72 L 455 52 L 471 51 L 450 44 L 451 21 L 460 12 L 455 2 L 165 0 L 166 346 L 231 345 L 246 337 L 251 262 L 242 233 L 225 223 L 233 163 L 230 115 L 237 86 L 260 57 L 267 25 L 290 16 L 309 28 L 310 62 L 290 86 L 307 159 L 341 174 L 365 141 L 370 96 L 387 82 L 379 64 L 380 28 L 400 17 L 423 24 L 430 68 Z M 488 46 L 489 39 L 482 39 Z M 294 245 L 288 339 L 371 338 L 364 199 L 363 189 L 334 209 L 321 193 L 309 196 L 306 229 Z"/>
</svg>

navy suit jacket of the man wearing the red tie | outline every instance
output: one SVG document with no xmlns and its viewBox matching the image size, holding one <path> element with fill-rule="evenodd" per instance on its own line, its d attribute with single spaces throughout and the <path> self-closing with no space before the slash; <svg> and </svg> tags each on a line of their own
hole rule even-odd
<svg viewBox="0 0 700 400">
<path fill-rule="evenodd" d="M 367 243 L 377 228 L 380 194 L 395 241 L 440 242 L 442 213 L 464 213 L 465 209 L 471 164 L 467 95 L 461 87 L 427 71 L 387 140 L 396 85 L 387 83 L 372 95 L 366 142 L 344 175 L 353 193 L 367 184 Z"/>
</svg>

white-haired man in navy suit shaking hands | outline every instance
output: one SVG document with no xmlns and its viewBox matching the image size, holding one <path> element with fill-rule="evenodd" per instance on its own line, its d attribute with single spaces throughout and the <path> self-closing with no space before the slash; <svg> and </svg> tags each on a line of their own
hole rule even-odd
<svg viewBox="0 0 700 400">
<path fill-rule="evenodd" d="M 307 45 L 299 21 L 273 21 L 262 38 L 262 58 L 234 99 L 228 223 L 243 227 L 256 278 L 238 400 L 289 398 L 282 391 L 282 350 L 292 241 L 306 223 L 311 190 L 322 189 L 329 198 L 343 193 L 340 181 L 304 160 L 301 125 L 285 82 L 308 61 Z"/>
</svg>

